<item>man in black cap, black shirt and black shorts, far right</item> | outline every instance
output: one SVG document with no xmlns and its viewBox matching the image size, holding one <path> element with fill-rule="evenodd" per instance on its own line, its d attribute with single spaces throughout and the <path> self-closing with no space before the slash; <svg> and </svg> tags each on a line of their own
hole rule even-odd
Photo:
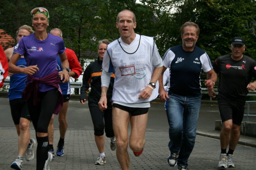
<svg viewBox="0 0 256 170">
<path fill-rule="evenodd" d="M 243 54 L 245 43 L 234 37 L 230 55 L 216 59 L 214 69 L 219 76 L 218 104 L 223 127 L 220 133 L 221 155 L 219 167 L 234 167 L 233 151 L 240 137 L 240 126 L 244 116 L 244 105 L 248 90 L 255 90 L 256 62 Z M 213 90 L 211 90 L 214 93 Z M 227 146 L 229 150 L 226 153 Z"/>
</svg>

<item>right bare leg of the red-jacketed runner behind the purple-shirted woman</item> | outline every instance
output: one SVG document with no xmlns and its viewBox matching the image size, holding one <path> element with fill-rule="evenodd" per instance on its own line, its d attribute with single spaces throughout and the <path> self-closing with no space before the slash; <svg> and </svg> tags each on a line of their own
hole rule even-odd
<svg viewBox="0 0 256 170">
<path fill-rule="evenodd" d="M 69 107 L 69 101 L 63 103 L 62 108 L 59 110 L 59 135 L 60 138 L 64 139 L 68 128 L 67 111 Z"/>
</svg>

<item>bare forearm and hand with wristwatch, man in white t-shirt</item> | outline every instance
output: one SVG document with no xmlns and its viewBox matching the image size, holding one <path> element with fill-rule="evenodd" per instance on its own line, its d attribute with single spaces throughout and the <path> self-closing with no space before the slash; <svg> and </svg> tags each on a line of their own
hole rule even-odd
<svg viewBox="0 0 256 170">
<path fill-rule="evenodd" d="M 161 72 L 162 72 L 162 66 L 161 67 L 156 67 L 153 71 L 152 77 L 150 82 L 154 82 L 156 83 L 157 80 L 159 79 Z M 150 98 L 151 94 L 152 94 L 153 89 L 146 86 L 140 93 L 139 95 L 139 99 L 143 98 L 143 99 L 148 99 Z"/>
</svg>

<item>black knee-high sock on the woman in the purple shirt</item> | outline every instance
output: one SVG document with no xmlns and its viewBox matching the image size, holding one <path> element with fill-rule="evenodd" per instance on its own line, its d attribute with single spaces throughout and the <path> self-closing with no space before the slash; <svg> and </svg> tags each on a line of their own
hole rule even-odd
<svg viewBox="0 0 256 170">
<path fill-rule="evenodd" d="M 36 137 L 37 148 L 36 148 L 36 169 L 44 169 L 46 160 L 48 159 L 48 136 Z"/>
</svg>

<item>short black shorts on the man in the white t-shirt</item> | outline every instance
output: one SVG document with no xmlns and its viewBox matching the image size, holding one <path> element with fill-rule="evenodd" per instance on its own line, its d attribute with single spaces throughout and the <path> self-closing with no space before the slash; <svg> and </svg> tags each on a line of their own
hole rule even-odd
<svg viewBox="0 0 256 170">
<path fill-rule="evenodd" d="M 113 103 L 113 107 L 116 107 L 118 109 L 124 110 L 126 112 L 129 112 L 131 116 L 138 116 L 141 114 L 146 114 L 148 112 L 149 107 L 146 108 L 138 108 L 138 107 L 127 107 L 127 106 L 122 106 L 116 103 Z"/>
</svg>

